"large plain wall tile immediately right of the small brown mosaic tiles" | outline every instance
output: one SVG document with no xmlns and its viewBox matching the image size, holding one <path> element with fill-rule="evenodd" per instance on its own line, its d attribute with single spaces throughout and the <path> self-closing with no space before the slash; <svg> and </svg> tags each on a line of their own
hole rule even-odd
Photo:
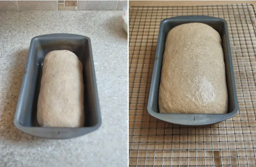
<svg viewBox="0 0 256 167">
<path fill-rule="evenodd" d="M 116 10 L 117 1 L 78 1 L 78 10 Z"/>
</svg>

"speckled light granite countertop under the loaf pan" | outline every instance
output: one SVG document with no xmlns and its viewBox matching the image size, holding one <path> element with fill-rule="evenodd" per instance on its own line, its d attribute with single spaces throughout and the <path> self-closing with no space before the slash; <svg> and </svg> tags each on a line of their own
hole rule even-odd
<svg viewBox="0 0 256 167">
<path fill-rule="evenodd" d="M 0 12 L 0 166 L 127 166 L 127 34 L 122 11 Z M 102 126 L 69 140 L 18 131 L 13 118 L 30 40 L 49 33 L 90 37 Z"/>
</svg>

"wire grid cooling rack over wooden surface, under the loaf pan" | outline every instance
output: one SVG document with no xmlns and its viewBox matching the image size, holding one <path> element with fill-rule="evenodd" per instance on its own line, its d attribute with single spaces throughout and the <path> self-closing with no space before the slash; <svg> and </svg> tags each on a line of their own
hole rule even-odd
<svg viewBox="0 0 256 167">
<path fill-rule="evenodd" d="M 239 113 L 218 124 L 187 127 L 147 111 L 160 21 L 178 15 L 224 18 L 229 27 Z M 129 166 L 256 167 L 256 36 L 250 4 L 129 9 Z"/>
</svg>

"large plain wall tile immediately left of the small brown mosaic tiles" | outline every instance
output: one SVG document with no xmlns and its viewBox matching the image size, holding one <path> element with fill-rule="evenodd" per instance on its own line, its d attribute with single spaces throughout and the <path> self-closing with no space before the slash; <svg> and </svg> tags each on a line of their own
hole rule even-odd
<svg viewBox="0 0 256 167">
<path fill-rule="evenodd" d="M 20 11 L 23 10 L 57 10 L 57 1 L 18 1 Z"/>
</svg>

